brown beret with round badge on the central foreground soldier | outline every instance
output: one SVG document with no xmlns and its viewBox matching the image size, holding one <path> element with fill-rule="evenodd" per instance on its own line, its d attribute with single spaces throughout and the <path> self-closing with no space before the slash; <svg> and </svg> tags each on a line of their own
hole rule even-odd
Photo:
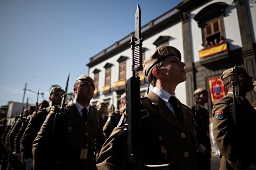
<svg viewBox="0 0 256 170">
<path fill-rule="evenodd" d="M 150 69 L 157 63 L 163 61 L 166 57 L 176 56 L 181 61 L 180 51 L 175 47 L 168 45 L 158 47 L 155 52 L 145 59 L 143 63 L 143 73 L 147 77 Z"/>
</svg>

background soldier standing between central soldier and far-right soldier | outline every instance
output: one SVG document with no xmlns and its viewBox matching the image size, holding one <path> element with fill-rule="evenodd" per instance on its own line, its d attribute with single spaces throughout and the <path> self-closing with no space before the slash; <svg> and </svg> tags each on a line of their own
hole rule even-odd
<svg viewBox="0 0 256 170">
<path fill-rule="evenodd" d="M 204 104 L 208 102 L 208 92 L 206 89 L 198 88 L 194 91 L 196 103 L 190 106 L 194 119 L 197 124 L 197 170 L 211 169 L 211 141 L 210 141 L 210 119 L 209 112 L 204 108 Z"/>
</svg>

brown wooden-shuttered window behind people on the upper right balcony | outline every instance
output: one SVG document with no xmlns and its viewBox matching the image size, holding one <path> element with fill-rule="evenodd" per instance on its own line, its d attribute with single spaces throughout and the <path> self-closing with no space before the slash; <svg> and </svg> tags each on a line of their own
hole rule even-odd
<svg viewBox="0 0 256 170">
<path fill-rule="evenodd" d="M 204 43 L 206 41 L 213 42 L 217 39 L 219 42 L 221 34 L 221 27 L 220 27 L 220 19 L 210 21 L 206 24 L 206 26 L 203 28 L 204 30 Z"/>
</svg>

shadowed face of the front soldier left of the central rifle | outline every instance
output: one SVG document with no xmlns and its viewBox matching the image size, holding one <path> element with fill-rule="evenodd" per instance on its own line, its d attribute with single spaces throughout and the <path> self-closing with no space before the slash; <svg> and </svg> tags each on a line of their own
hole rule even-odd
<svg viewBox="0 0 256 170">
<path fill-rule="evenodd" d="M 74 88 L 74 93 L 78 98 L 91 100 L 93 97 L 93 84 L 88 80 L 78 80 L 79 83 L 76 88 Z"/>
</svg>

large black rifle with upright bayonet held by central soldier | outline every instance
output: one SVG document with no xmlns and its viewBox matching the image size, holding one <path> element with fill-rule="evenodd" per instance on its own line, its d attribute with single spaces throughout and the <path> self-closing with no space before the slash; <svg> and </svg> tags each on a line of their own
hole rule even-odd
<svg viewBox="0 0 256 170">
<path fill-rule="evenodd" d="M 127 149 L 129 168 L 133 170 L 161 169 L 168 170 L 169 164 L 146 165 L 143 163 L 141 143 L 141 105 L 140 102 L 140 77 L 142 71 L 142 41 L 141 38 L 141 10 L 139 4 L 135 13 L 135 37 L 131 37 L 132 50 L 132 77 L 126 81 L 126 114 L 127 123 L 124 130 L 128 129 Z"/>
</svg>

